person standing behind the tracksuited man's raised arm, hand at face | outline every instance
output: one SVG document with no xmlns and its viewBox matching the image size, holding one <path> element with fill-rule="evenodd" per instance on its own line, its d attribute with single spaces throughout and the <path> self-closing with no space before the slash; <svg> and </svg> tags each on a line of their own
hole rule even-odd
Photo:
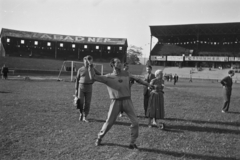
<svg viewBox="0 0 240 160">
<path fill-rule="evenodd" d="M 93 80 L 89 78 L 88 68 L 89 61 L 93 62 L 92 56 L 83 58 L 84 66 L 78 69 L 76 82 L 75 82 L 75 97 L 80 99 L 77 103 L 79 109 L 79 121 L 88 122 L 87 116 L 90 111 L 90 104 L 92 99 L 92 84 Z M 97 74 L 100 74 L 94 69 Z"/>
</svg>

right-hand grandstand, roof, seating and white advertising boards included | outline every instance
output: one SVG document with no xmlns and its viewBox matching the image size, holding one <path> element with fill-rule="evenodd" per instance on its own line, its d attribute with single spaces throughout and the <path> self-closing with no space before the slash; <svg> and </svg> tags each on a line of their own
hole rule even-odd
<svg viewBox="0 0 240 160">
<path fill-rule="evenodd" d="M 150 26 L 153 65 L 240 69 L 240 23 Z"/>
</svg>

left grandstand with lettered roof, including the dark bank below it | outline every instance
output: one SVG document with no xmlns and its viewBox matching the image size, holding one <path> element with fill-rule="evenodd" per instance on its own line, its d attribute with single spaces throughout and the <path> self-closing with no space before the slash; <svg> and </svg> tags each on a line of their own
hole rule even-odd
<svg viewBox="0 0 240 160">
<path fill-rule="evenodd" d="M 16 75 L 55 75 L 58 76 L 64 65 L 69 75 L 74 61 L 74 74 L 83 57 L 92 55 L 97 69 L 103 73 L 112 72 L 110 59 L 117 57 L 127 60 L 128 42 L 125 38 L 83 37 L 71 35 L 28 32 L 3 28 L 0 40 L 0 66 L 6 64 L 11 76 Z M 101 65 L 101 66 L 99 66 Z M 133 74 L 142 74 L 144 66 L 132 65 Z"/>
</svg>

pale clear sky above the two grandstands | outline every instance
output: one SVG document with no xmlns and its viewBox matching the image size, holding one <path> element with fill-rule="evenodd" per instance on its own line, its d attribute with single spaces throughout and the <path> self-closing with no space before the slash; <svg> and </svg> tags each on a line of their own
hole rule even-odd
<svg viewBox="0 0 240 160">
<path fill-rule="evenodd" d="M 227 22 L 240 22 L 240 0 L 0 0 L 0 29 L 127 38 L 143 57 L 149 26 Z"/>
</svg>

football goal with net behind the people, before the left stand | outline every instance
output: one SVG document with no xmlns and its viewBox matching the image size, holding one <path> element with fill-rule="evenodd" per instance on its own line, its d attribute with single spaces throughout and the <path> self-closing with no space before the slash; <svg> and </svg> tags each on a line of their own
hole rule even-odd
<svg viewBox="0 0 240 160">
<path fill-rule="evenodd" d="M 84 66 L 84 62 L 78 61 L 64 61 L 58 74 L 58 81 L 75 81 L 77 71 Z M 93 66 L 103 75 L 103 65 L 93 63 Z"/>
</svg>

